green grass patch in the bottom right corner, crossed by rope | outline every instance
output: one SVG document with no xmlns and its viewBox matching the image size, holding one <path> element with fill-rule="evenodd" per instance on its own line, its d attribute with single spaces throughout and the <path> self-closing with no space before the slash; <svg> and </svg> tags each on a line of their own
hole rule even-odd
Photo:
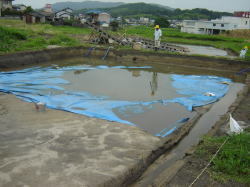
<svg viewBox="0 0 250 187">
<path fill-rule="evenodd" d="M 196 154 L 211 158 L 227 137 L 205 137 Z M 212 177 L 220 182 L 236 181 L 250 184 L 250 133 L 230 136 L 210 168 Z"/>
</svg>

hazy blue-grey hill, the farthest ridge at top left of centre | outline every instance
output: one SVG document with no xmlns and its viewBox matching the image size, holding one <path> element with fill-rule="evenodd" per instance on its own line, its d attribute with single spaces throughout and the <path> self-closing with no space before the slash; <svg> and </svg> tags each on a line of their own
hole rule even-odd
<svg viewBox="0 0 250 187">
<path fill-rule="evenodd" d="M 91 9 L 91 8 L 113 8 L 123 5 L 122 2 L 100 2 L 100 1 L 83 1 L 83 2 L 59 2 L 52 4 L 54 10 L 72 8 L 73 10 Z"/>
</svg>

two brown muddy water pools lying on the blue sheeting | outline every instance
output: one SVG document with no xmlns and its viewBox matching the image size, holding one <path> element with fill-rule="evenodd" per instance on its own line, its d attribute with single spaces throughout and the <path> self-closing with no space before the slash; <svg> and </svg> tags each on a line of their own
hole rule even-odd
<svg viewBox="0 0 250 187">
<path fill-rule="evenodd" d="M 121 101 L 155 101 L 181 97 L 172 86 L 171 75 L 149 72 L 146 69 L 102 69 L 90 71 L 69 71 L 63 78 L 71 84 L 66 90 L 87 91 L 93 95 L 106 96 Z M 171 130 L 176 121 L 192 118 L 195 112 L 189 112 L 180 104 L 153 104 L 151 106 L 133 106 L 115 109 L 115 114 L 126 121 L 155 135 L 163 129 Z"/>
</svg>

